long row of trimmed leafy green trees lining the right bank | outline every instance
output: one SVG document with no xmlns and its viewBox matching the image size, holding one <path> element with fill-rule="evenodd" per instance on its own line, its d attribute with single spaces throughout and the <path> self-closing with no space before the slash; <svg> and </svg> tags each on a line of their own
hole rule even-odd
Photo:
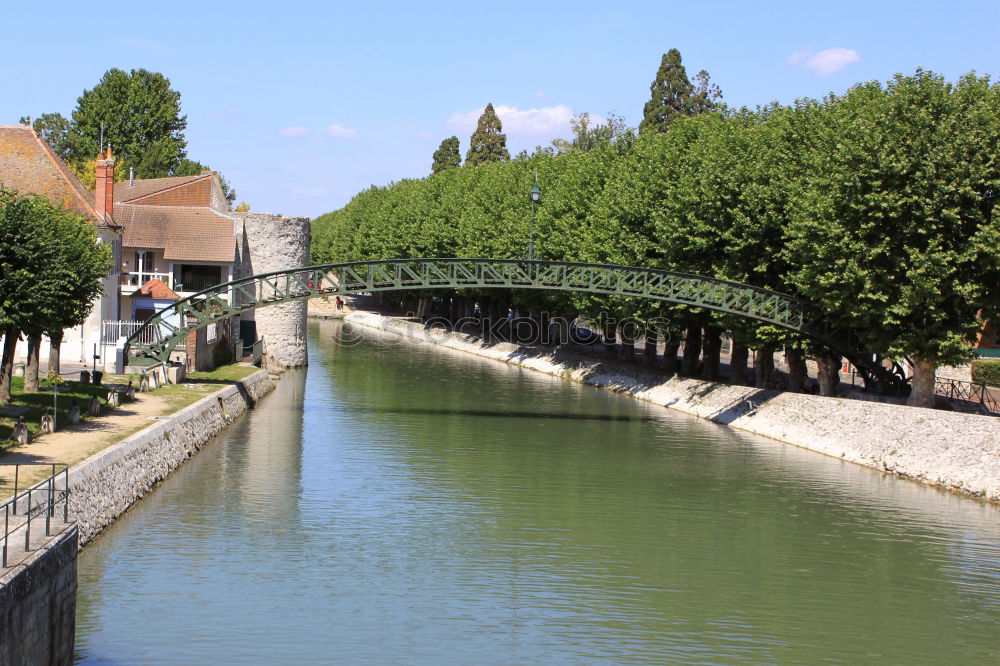
<svg viewBox="0 0 1000 666">
<path fill-rule="evenodd" d="M 909 357 L 911 404 L 930 403 L 935 368 L 965 358 L 982 313 L 1000 312 L 1000 86 L 988 77 L 949 83 L 917 70 L 822 100 L 682 115 L 638 137 L 608 136 L 590 150 L 372 187 L 317 218 L 313 258 L 522 256 L 537 173 L 536 255 L 802 296 L 873 352 Z M 686 369 L 701 350 L 709 377 L 722 332 L 734 341 L 737 381 L 748 348 L 766 364 L 784 347 L 793 377 L 804 353 L 837 363 L 793 334 L 729 316 L 624 298 L 501 298 L 522 311 L 669 320 L 662 333 L 688 341 Z M 758 368 L 758 381 L 767 372 Z"/>
</svg>

